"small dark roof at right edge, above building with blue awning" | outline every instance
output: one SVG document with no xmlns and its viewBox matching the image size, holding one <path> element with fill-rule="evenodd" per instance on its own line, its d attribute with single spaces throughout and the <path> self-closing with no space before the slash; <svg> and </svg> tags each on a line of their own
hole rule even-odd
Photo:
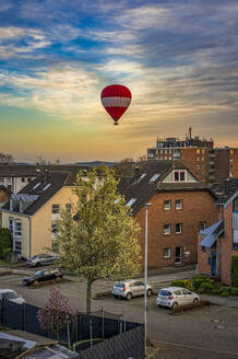
<svg viewBox="0 0 238 359">
<path fill-rule="evenodd" d="M 238 178 L 227 178 L 222 184 L 213 185 L 211 189 L 216 194 L 218 205 L 223 205 L 238 190 Z"/>
</svg>

